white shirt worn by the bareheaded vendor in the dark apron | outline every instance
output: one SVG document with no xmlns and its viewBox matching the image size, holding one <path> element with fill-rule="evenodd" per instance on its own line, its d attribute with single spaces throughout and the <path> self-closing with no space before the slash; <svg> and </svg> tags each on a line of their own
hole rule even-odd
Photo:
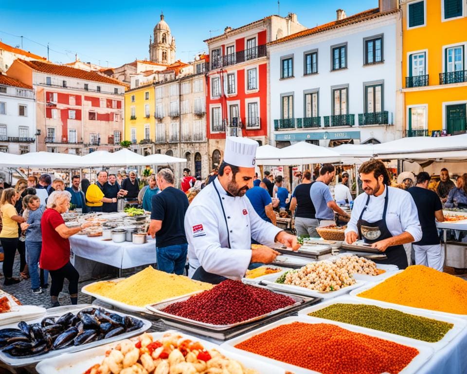
<svg viewBox="0 0 467 374">
<path fill-rule="evenodd" d="M 422 239 L 422 228 L 418 221 L 418 210 L 411 194 L 403 189 L 385 186 L 384 192 L 379 196 L 370 196 L 368 207 L 363 213 L 362 219 L 368 222 L 376 222 L 383 218 L 384 198 L 389 188 L 388 209 L 386 211 L 386 225 L 393 236 L 407 231 L 413 236 L 413 241 Z M 359 233 L 357 221 L 365 207 L 368 195 L 363 192 L 354 201 L 350 222 L 345 233 L 355 231 Z"/>
</svg>

